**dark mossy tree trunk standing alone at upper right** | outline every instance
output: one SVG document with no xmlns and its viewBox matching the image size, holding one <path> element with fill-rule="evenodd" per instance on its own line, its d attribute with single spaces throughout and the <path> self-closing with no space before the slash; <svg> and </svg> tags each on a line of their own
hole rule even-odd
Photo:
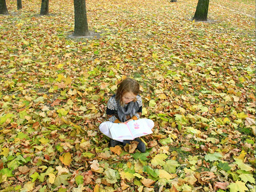
<svg viewBox="0 0 256 192">
<path fill-rule="evenodd" d="M 193 20 L 207 20 L 209 0 L 198 0 Z"/>
</svg>

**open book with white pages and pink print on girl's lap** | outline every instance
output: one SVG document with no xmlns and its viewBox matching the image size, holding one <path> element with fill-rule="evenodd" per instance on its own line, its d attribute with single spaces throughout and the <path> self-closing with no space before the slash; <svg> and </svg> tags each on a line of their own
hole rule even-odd
<svg viewBox="0 0 256 192">
<path fill-rule="evenodd" d="M 127 124 L 113 123 L 109 127 L 109 131 L 113 140 L 134 140 L 135 138 L 153 133 L 144 119 L 132 120 Z"/>
</svg>

